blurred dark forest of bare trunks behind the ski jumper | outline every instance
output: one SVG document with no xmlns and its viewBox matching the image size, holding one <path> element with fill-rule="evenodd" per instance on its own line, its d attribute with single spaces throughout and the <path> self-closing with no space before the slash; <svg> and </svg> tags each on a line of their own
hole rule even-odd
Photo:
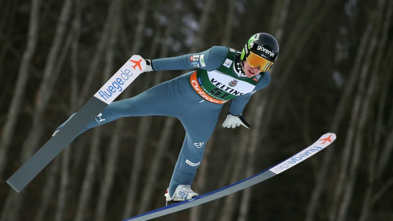
<svg viewBox="0 0 393 221">
<path fill-rule="evenodd" d="M 119 221 L 165 206 L 185 131 L 129 117 L 76 138 L 21 193 L 5 181 L 131 55 L 257 32 L 280 43 L 272 82 L 243 114 L 220 115 L 192 188 L 207 193 L 337 140 L 252 188 L 157 221 L 392 221 L 392 0 L 0 0 L 0 221 Z M 142 74 L 117 99 L 185 71 Z"/>
</svg>

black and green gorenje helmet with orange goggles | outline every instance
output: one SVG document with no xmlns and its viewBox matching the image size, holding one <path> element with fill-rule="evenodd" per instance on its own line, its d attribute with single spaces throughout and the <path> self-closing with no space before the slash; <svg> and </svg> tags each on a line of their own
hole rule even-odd
<svg viewBox="0 0 393 221">
<path fill-rule="evenodd" d="M 256 55 L 256 56 L 255 56 Z M 256 33 L 244 45 L 240 58 L 260 71 L 269 70 L 279 55 L 279 43 L 268 33 Z"/>
</svg>

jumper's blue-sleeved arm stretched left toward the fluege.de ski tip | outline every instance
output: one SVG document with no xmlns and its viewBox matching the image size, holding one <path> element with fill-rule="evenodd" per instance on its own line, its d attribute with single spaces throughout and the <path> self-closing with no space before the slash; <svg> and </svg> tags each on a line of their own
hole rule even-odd
<svg viewBox="0 0 393 221">
<path fill-rule="evenodd" d="M 195 68 L 213 71 L 224 63 L 228 51 L 227 47 L 213 46 L 200 53 L 153 59 L 151 63 L 155 71 L 189 70 Z"/>
</svg>

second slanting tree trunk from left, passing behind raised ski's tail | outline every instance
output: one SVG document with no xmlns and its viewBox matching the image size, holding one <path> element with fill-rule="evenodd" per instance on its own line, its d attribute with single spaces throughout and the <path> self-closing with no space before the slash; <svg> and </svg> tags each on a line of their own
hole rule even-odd
<svg viewBox="0 0 393 221">
<path fill-rule="evenodd" d="M 64 1 L 63 7 L 61 9 L 59 21 L 56 27 L 54 41 L 49 51 L 49 55 L 47 57 L 47 63 L 44 70 L 43 80 L 40 85 L 40 89 L 35 104 L 31 130 L 28 133 L 28 137 L 25 140 L 22 147 L 21 159 L 20 159 L 21 163 L 26 162 L 31 157 L 31 155 L 33 154 L 33 152 L 35 151 L 35 149 L 39 144 L 39 140 L 44 130 L 44 125 L 42 124 L 43 115 L 48 105 L 50 96 L 52 94 L 52 89 L 57 79 L 59 68 L 61 67 L 61 60 L 57 60 L 57 56 L 60 51 L 61 42 L 64 39 L 64 32 L 66 30 L 67 22 L 71 15 L 71 6 L 72 6 L 72 0 L 66 0 Z M 66 51 L 62 53 L 67 54 Z M 63 59 L 64 57 L 65 56 L 63 56 Z M 55 68 L 55 64 L 58 65 L 59 67 L 57 70 Z M 2 212 L 2 214 L 6 214 L 5 211 L 9 211 L 8 221 L 16 221 L 18 219 L 18 214 L 21 209 L 22 201 L 24 198 L 23 196 L 25 193 L 26 191 L 21 193 L 16 193 L 12 191 L 7 196 L 7 200 L 6 200 L 7 202 L 3 208 L 4 211 Z M 13 209 L 9 210 L 9 208 L 13 208 Z M 1 221 L 3 221 L 3 217 L 1 218 Z"/>
</svg>

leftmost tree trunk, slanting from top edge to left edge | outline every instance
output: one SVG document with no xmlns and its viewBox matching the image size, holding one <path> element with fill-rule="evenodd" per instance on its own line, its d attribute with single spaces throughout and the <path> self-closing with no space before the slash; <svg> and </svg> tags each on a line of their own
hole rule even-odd
<svg viewBox="0 0 393 221">
<path fill-rule="evenodd" d="M 0 177 L 3 177 L 3 171 L 6 163 L 6 156 L 15 131 L 15 124 L 23 102 L 26 84 L 28 82 L 28 67 L 31 58 L 35 52 L 38 41 L 38 21 L 40 0 L 31 0 L 31 10 L 29 19 L 28 39 L 25 52 L 23 53 L 18 79 L 15 84 L 14 95 L 7 113 L 5 125 L 3 127 L 0 139 Z"/>
</svg>

